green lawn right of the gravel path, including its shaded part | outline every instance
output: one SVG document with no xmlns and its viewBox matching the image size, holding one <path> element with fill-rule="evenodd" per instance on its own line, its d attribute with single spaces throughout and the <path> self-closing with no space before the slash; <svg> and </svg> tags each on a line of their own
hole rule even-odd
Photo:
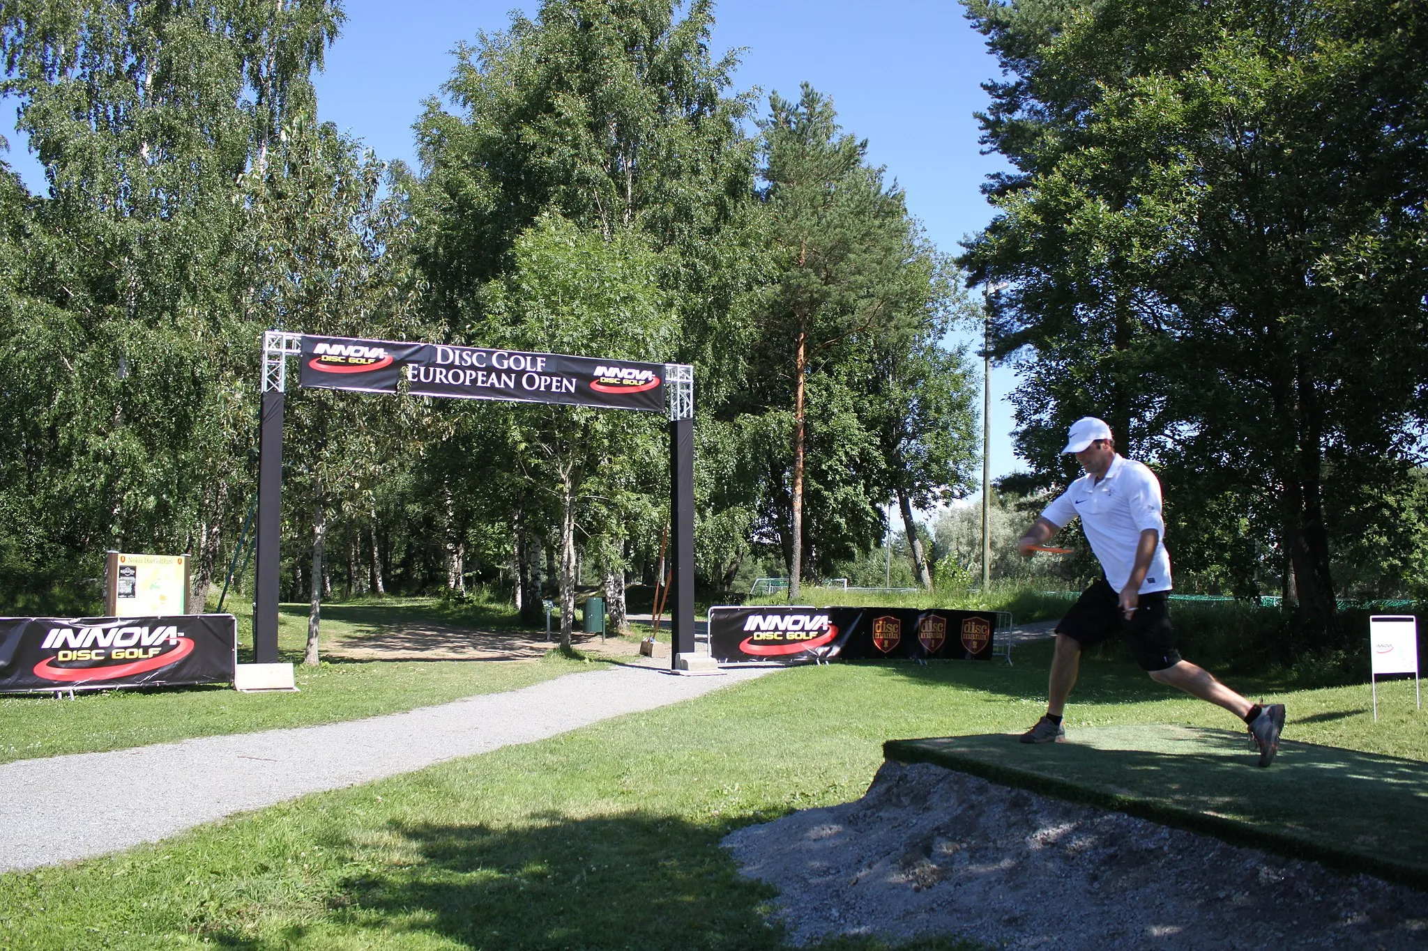
<svg viewBox="0 0 1428 951">
<path fill-rule="evenodd" d="M 773 891 L 738 878 L 720 838 L 857 798 L 887 739 L 1030 726 L 1048 659 L 1035 644 L 1014 669 L 793 669 L 120 855 L 0 875 L 0 947 L 777 948 Z M 1259 696 L 1272 684 L 1235 686 Z M 1428 720 L 1411 694 L 1388 684 L 1378 726 L 1367 686 L 1265 699 L 1288 704 L 1288 739 L 1424 760 Z M 1132 723 L 1235 729 L 1134 666 L 1087 657 L 1072 739 Z"/>
</svg>

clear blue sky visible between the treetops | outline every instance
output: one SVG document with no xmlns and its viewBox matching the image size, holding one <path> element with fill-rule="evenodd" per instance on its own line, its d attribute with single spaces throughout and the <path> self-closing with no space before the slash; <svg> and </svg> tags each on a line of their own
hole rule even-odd
<svg viewBox="0 0 1428 951">
<path fill-rule="evenodd" d="M 511 0 L 346 0 L 347 23 L 317 77 L 320 117 L 361 138 L 383 158 L 416 164 L 411 124 L 440 93 L 451 48 L 480 30 L 497 31 Z M 810 81 L 833 97 L 844 128 L 868 140 L 874 163 L 907 191 L 907 202 L 944 251 L 982 228 L 990 208 L 978 191 L 997 155 L 980 154 L 972 111 L 997 76 L 982 37 L 955 0 L 724 0 L 714 10 L 714 53 L 744 47 L 735 88 L 797 97 Z M 37 170 L 10 135 L 11 164 L 31 188 Z M 967 335 L 964 335 L 967 336 Z M 978 334 L 980 336 L 980 334 Z M 980 361 L 978 361 L 980 362 Z M 1017 468 L 1011 369 L 992 371 L 992 476 Z"/>
</svg>

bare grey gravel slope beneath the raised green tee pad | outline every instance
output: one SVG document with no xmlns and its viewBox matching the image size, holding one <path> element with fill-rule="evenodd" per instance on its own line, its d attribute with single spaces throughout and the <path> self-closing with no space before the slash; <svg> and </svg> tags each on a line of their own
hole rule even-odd
<svg viewBox="0 0 1428 951">
<path fill-rule="evenodd" d="M 795 944 L 944 934 L 1005 948 L 1428 948 L 1428 894 L 931 764 L 731 833 Z"/>
</svg>

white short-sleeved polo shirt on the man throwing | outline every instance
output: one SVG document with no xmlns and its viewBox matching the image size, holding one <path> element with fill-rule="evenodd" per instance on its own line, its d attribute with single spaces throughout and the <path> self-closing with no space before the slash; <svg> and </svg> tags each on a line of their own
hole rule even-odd
<svg viewBox="0 0 1428 951">
<path fill-rule="evenodd" d="M 1160 479 L 1140 462 L 1120 453 L 1111 461 L 1100 482 L 1087 473 L 1071 483 L 1055 502 L 1041 513 L 1060 529 L 1081 516 L 1081 528 L 1091 542 L 1091 550 L 1105 570 L 1105 580 L 1121 590 L 1131 580 L 1135 567 L 1135 546 L 1141 532 L 1155 529 L 1160 535 L 1141 595 L 1168 592 L 1170 553 L 1165 550 L 1165 519 L 1161 515 Z"/>
</svg>

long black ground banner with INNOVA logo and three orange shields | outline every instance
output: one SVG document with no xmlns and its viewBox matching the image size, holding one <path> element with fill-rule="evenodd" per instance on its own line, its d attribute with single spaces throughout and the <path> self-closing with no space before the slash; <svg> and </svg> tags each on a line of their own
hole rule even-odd
<svg viewBox="0 0 1428 951">
<path fill-rule="evenodd" d="M 995 616 L 901 607 L 711 607 L 720 663 L 881 657 L 990 660 Z"/>
</svg>

